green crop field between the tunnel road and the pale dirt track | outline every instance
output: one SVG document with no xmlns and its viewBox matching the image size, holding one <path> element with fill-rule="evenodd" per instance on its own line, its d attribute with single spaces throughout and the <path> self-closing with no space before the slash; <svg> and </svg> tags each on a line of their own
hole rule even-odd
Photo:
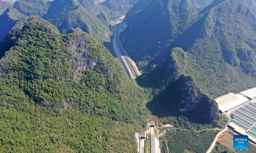
<svg viewBox="0 0 256 153">
<path fill-rule="evenodd" d="M 206 130 L 203 132 L 167 130 L 164 136 L 160 138 L 162 144 L 161 152 L 167 153 L 168 146 L 170 153 L 205 153 L 219 132 L 218 130 Z"/>
</svg>

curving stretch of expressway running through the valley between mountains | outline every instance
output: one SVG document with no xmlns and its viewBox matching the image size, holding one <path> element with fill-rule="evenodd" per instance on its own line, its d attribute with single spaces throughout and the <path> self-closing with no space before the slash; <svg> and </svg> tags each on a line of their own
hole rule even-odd
<svg viewBox="0 0 256 153">
<path fill-rule="evenodd" d="M 140 76 L 140 71 L 138 70 L 135 62 L 132 61 L 132 59 L 129 57 L 127 52 L 124 50 L 124 47 L 119 40 L 119 34 L 120 34 L 120 24 L 123 21 L 124 16 L 122 16 L 115 25 L 114 28 L 114 39 L 113 39 L 113 46 L 116 52 L 116 56 L 119 60 L 119 62 L 122 64 L 125 72 L 132 77 L 133 79 Z"/>
</svg>

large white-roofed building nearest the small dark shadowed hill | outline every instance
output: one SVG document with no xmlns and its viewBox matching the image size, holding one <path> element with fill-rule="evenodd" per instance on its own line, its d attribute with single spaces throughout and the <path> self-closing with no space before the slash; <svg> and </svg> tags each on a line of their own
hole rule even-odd
<svg viewBox="0 0 256 153">
<path fill-rule="evenodd" d="M 226 112 L 236 106 L 239 106 L 247 101 L 249 101 L 248 98 L 245 98 L 244 96 L 240 94 L 234 94 L 234 93 L 228 93 L 224 96 L 221 96 L 219 98 L 214 99 L 219 106 L 219 110 L 221 112 Z"/>
</svg>

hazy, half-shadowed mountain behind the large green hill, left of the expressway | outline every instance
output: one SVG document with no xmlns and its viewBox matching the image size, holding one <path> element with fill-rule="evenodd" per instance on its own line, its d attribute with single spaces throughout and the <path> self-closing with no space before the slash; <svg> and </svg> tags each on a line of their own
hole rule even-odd
<svg viewBox="0 0 256 153">
<path fill-rule="evenodd" d="M 69 33 L 72 28 L 80 28 L 100 42 L 109 40 L 105 34 L 109 31 L 107 21 L 86 11 L 76 0 L 53 1 L 43 18 L 57 26 L 63 34 Z"/>
</svg>

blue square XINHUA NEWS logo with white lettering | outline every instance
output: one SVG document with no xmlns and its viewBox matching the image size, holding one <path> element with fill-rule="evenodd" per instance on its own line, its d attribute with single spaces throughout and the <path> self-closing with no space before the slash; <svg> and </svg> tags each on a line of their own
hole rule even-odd
<svg viewBox="0 0 256 153">
<path fill-rule="evenodd" d="M 233 149 L 234 150 L 248 150 L 249 149 L 248 135 L 234 135 Z"/>
</svg>

